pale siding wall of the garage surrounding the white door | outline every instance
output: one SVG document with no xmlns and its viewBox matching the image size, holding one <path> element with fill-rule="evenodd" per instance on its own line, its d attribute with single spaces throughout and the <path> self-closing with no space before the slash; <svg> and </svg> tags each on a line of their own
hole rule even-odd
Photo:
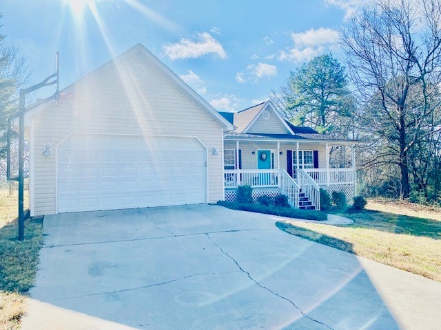
<svg viewBox="0 0 441 330">
<path fill-rule="evenodd" d="M 182 87 L 140 50 L 107 63 L 63 90 L 59 106 L 34 116 L 33 215 L 56 212 L 56 146 L 70 133 L 196 136 L 207 151 L 223 131 Z M 52 155 L 43 156 L 45 144 Z M 223 199 L 223 157 L 207 153 L 208 201 Z"/>
</svg>

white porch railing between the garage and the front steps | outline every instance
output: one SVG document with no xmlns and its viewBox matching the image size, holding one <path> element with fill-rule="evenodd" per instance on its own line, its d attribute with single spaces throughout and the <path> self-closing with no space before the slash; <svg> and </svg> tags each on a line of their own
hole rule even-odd
<svg viewBox="0 0 441 330">
<path fill-rule="evenodd" d="M 225 188 L 252 186 L 253 188 L 277 187 L 279 170 L 225 170 Z"/>
</svg>

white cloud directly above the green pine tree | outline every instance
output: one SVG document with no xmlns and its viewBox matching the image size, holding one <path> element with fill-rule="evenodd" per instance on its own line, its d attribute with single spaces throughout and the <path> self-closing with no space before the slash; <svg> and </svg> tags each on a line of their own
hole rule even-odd
<svg viewBox="0 0 441 330">
<path fill-rule="evenodd" d="M 329 50 L 338 39 L 338 31 L 329 28 L 311 29 L 305 32 L 292 33 L 291 39 L 294 46 L 289 50 L 281 50 L 278 59 L 299 63 L 308 61 L 314 56 Z"/>
</svg>

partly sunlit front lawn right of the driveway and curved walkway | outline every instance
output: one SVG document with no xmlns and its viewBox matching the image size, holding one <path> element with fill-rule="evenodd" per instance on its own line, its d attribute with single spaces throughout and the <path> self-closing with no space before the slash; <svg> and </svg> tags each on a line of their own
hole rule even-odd
<svg viewBox="0 0 441 330">
<path fill-rule="evenodd" d="M 400 213 L 411 206 L 400 205 L 402 212 L 396 206 L 394 213 L 363 210 L 340 214 L 353 219 L 351 225 L 300 221 L 278 221 L 276 225 L 290 234 L 441 282 L 441 212 L 431 212 L 433 219 L 409 217 Z"/>
</svg>

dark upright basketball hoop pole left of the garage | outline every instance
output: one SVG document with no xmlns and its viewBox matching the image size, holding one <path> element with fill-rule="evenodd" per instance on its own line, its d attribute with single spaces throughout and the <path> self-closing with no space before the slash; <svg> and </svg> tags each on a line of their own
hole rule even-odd
<svg viewBox="0 0 441 330">
<path fill-rule="evenodd" d="M 20 89 L 19 108 L 19 241 L 24 239 L 25 214 L 23 208 L 24 196 L 24 153 L 25 153 L 25 91 Z"/>
</svg>

